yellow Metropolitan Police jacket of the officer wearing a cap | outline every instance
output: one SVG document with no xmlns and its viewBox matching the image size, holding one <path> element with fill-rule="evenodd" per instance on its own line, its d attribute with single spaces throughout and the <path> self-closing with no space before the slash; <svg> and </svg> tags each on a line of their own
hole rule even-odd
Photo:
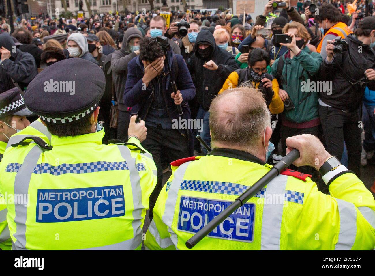
<svg viewBox="0 0 375 276">
<path fill-rule="evenodd" d="M 103 136 L 60 138 L 37 120 L 10 138 L 0 193 L 14 198 L 12 249 L 141 249 L 156 166 L 138 139 L 102 145 Z"/>
</svg>

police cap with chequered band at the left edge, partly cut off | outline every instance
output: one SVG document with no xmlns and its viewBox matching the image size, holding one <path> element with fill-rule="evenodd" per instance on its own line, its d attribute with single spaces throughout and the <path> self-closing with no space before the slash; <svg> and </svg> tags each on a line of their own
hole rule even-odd
<svg viewBox="0 0 375 276">
<path fill-rule="evenodd" d="M 20 89 L 14 87 L 0 94 L 0 118 L 8 115 L 28 116 L 33 114 L 25 106 Z"/>
</svg>

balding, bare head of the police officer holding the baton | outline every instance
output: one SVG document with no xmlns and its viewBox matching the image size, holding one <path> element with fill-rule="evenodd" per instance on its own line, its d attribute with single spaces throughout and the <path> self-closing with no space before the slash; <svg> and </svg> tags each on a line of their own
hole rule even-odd
<svg viewBox="0 0 375 276">
<path fill-rule="evenodd" d="M 250 86 L 225 90 L 210 106 L 213 147 L 255 151 L 263 145 L 264 129 L 271 124 L 263 93 Z"/>
</svg>

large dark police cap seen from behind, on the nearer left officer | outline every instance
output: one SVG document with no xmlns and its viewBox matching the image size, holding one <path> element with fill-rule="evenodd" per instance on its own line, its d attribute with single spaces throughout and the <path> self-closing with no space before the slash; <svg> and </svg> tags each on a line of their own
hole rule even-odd
<svg viewBox="0 0 375 276">
<path fill-rule="evenodd" d="M 30 82 L 25 104 L 51 124 L 72 124 L 87 118 L 105 89 L 103 70 L 93 62 L 70 58 L 56 62 Z"/>
</svg>

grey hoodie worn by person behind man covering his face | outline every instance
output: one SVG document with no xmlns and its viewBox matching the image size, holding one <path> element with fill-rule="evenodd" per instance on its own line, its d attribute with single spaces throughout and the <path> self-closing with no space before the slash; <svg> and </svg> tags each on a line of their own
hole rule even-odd
<svg viewBox="0 0 375 276">
<path fill-rule="evenodd" d="M 137 56 L 134 52 L 130 53 L 127 47 L 127 44 L 132 38 L 142 38 L 142 33 L 138 28 L 131 27 L 126 30 L 121 49 L 114 51 L 111 58 L 112 80 L 115 86 L 118 109 L 121 111 L 127 111 L 127 106 L 123 99 L 127 76 L 127 63 L 129 63 L 133 57 Z"/>
</svg>

